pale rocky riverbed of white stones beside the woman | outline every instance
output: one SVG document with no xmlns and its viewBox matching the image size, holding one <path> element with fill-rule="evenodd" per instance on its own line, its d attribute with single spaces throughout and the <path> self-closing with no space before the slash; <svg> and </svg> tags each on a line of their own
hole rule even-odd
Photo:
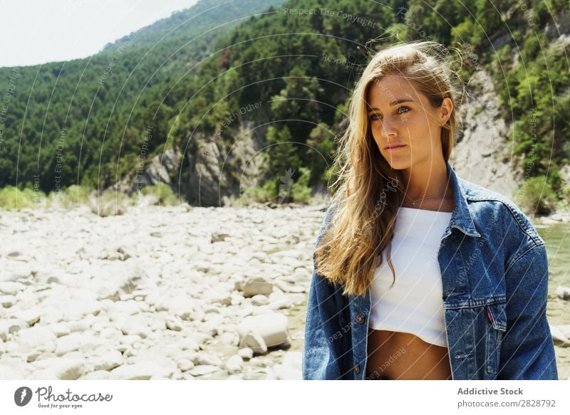
<svg viewBox="0 0 570 415">
<path fill-rule="evenodd" d="M 1 211 L 0 379 L 301 379 L 323 207 Z"/>
</svg>

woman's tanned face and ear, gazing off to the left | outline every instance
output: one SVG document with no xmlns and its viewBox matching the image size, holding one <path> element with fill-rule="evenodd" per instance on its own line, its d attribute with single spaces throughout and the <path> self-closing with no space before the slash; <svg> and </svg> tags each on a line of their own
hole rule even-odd
<svg viewBox="0 0 570 415">
<path fill-rule="evenodd" d="M 435 157 L 443 159 L 441 125 L 450 117 L 450 98 L 433 108 L 408 80 L 386 75 L 370 85 L 366 101 L 374 141 L 390 167 L 411 169 L 413 164 L 429 172 Z M 400 147 L 387 148 L 394 146 Z"/>
</svg>

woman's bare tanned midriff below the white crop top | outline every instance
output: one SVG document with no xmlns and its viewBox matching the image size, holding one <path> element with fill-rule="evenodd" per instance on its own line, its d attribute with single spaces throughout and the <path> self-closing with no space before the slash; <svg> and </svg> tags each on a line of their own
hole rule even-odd
<svg viewBox="0 0 570 415">
<path fill-rule="evenodd" d="M 405 332 L 368 328 L 366 379 L 452 379 L 447 347 Z"/>
</svg>

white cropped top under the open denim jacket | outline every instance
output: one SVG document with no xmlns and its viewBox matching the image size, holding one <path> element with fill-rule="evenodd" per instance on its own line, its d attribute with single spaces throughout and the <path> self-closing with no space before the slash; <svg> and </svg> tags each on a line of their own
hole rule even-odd
<svg viewBox="0 0 570 415">
<path fill-rule="evenodd" d="M 437 261 L 441 237 L 452 212 L 400 207 L 390 258 L 376 268 L 368 325 L 375 330 L 407 332 L 432 345 L 447 347 L 442 281 Z M 388 289 L 390 288 L 390 289 Z"/>
</svg>

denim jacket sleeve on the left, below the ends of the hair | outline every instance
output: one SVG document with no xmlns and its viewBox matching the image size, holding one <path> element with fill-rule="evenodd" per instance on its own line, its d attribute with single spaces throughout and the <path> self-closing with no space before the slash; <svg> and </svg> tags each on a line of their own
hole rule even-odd
<svg viewBox="0 0 570 415">
<path fill-rule="evenodd" d="M 329 207 L 318 232 L 316 246 L 321 241 L 330 217 L 331 208 Z M 313 255 L 313 263 L 314 258 Z M 335 317 L 330 316 L 333 314 L 331 310 L 336 304 L 336 290 L 326 278 L 316 273 L 315 264 L 313 269 L 307 298 L 302 375 L 304 380 L 339 379 L 341 377 L 341 364 L 336 359 L 335 348 L 331 339 L 331 332 L 338 328 L 338 323 Z"/>
</svg>

